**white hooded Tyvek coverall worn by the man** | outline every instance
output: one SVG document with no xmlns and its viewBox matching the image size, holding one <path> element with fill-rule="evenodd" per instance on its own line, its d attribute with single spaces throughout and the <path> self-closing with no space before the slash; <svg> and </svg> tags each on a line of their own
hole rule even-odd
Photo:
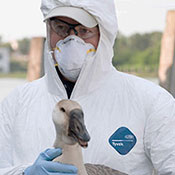
<svg viewBox="0 0 175 175">
<path fill-rule="evenodd" d="M 112 66 L 117 20 L 113 0 L 43 0 L 44 15 L 55 6 L 87 10 L 99 24 L 100 41 L 85 62 L 71 99 L 79 102 L 91 136 L 84 161 L 129 175 L 175 174 L 175 100 L 144 79 Z M 45 51 L 45 76 L 15 89 L 0 105 L 0 175 L 20 175 L 52 147 L 52 110 L 66 90 Z"/>
</svg>

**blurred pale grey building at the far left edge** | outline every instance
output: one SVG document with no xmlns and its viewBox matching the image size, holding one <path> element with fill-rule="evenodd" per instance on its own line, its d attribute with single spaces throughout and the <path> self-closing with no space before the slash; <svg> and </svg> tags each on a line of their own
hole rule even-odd
<svg viewBox="0 0 175 175">
<path fill-rule="evenodd" d="M 0 72 L 10 71 L 10 52 L 8 48 L 0 48 Z"/>
</svg>

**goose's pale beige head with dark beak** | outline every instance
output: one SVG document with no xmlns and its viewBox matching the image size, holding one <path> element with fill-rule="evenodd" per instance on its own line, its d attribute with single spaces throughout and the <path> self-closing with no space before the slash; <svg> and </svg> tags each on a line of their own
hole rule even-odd
<svg viewBox="0 0 175 175">
<path fill-rule="evenodd" d="M 53 110 L 52 117 L 57 135 L 55 147 L 77 143 L 84 148 L 88 146 L 90 136 L 84 123 L 83 110 L 77 102 L 59 101 Z"/>
</svg>

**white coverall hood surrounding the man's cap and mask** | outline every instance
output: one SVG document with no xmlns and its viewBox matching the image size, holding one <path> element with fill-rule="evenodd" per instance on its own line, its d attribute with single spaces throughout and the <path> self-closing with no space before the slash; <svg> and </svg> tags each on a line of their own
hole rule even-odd
<svg viewBox="0 0 175 175">
<path fill-rule="evenodd" d="M 117 34 L 117 20 L 115 15 L 115 5 L 113 1 L 109 1 L 107 4 L 101 1 L 79 1 L 79 0 L 43 0 L 41 4 L 41 10 L 44 17 L 55 7 L 73 6 L 86 10 L 90 13 L 98 22 L 100 30 L 100 41 L 98 48 L 93 59 L 86 61 L 72 96 L 85 95 L 94 89 L 101 86 L 101 81 L 107 76 L 113 69 L 112 57 L 113 57 L 113 45 Z M 106 7 L 108 5 L 108 7 Z M 49 37 L 47 38 L 49 39 Z M 47 43 L 50 43 L 49 41 Z M 45 72 L 47 73 L 48 85 L 50 92 L 63 95 L 66 98 L 66 92 L 62 87 L 62 83 L 59 80 L 57 73 L 54 69 L 54 61 L 49 54 L 49 46 L 46 44 L 45 49 Z M 87 81 L 88 80 L 88 81 Z M 58 86 L 59 85 L 59 86 Z"/>
</svg>

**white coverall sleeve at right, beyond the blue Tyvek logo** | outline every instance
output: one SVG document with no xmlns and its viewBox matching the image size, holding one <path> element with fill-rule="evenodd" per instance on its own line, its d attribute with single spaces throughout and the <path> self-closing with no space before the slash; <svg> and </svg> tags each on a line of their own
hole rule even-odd
<svg viewBox="0 0 175 175">
<path fill-rule="evenodd" d="M 158 175 L 175 174 L 175 99 L 159 93 L 145 127 L 145 151 Z"/>
</svg>

